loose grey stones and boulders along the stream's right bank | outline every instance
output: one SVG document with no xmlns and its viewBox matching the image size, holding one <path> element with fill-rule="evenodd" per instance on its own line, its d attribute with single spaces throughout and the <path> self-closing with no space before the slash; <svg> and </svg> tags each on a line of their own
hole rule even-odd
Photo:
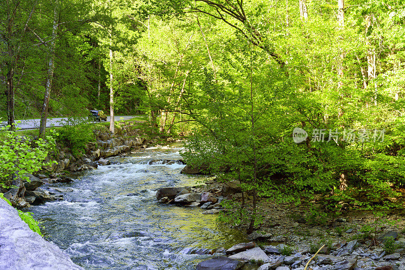
<svg viewBox="0 0 405 270">
<path fill-rule="evenodd" d="M 185 167 L 183 172 L 199 170 Z M 252 199 L 248 194 L 243 196 Z M 156 192 L 160 203 L 200 207 L 203 214 L 220 213 L 225 210 L 223 200 L 241 197 L 238 181 L 223 184 L 216 177 L 203 186 L 168 187 Z M 307 209 L 303 206 L 262 199 L 259 208 L 265 214 L 264 224 L 248 235 L 252 242 L 211 250 L 208 253 L 214 257 L 198 263 L 197 269 L 303 270 L 308 261 L 308 269 L 312 270 L 405 269 L 405 236 L 400 230 L 404 227 L 398 216 L 376 220 L 367 212 L 346 213 L 329 226 L 320 226 L 304 218 Z M 390 222 L 393 220 L 396 222 Z M 322 245 L 325 246 L 311 260 Z"/>
</svg>

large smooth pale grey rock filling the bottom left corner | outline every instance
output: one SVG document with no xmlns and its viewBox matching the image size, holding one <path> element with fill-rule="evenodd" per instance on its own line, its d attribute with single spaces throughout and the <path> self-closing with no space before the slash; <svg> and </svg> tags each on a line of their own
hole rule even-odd
<svg viewBox="0 0 405 270">
<path fill-rule="evenodd" d="M 0 199 L 0 269 L 84 270 L 58 246 L 32 232 L 17 210 Z"/>
</svg>

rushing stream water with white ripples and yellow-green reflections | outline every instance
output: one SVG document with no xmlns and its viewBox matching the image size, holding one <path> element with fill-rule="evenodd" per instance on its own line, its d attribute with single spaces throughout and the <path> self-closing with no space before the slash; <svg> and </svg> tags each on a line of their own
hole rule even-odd
<svg viewBox="0 0 405 270">
<path fill-rule="evenodd" d="M 75 176 L 64 200 L 30 208 L 42 232 L 86 269 L 195 269 L 207 249 L 246 241 L 236 230 L 221 227 L 215 215 L 196 207 L 159 204 L 161 187 L 195 186 L 204 176 L 180 174 L 181 145 L 147 148 L 127 157 L 111 158 Z M 130 195 L 130 196 L 128 196 Z"/>
</svg>

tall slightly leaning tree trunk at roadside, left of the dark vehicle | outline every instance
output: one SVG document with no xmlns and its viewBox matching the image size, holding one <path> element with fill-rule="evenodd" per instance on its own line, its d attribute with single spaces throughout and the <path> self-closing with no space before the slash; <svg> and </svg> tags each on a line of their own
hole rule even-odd
<svg viewBox="0 0 405 270">
<path fill-rule="evenodd" d="M 39 124 L 39 138 L 45 137 L 45 129 L 47 127 L 47 118 L 48 118 L 48 107 L 49 107 L 49 98 L 51 97 L 51 88 L 52 80 L 54 77 L 55 71 L 55 44 L 56 44 L 56 35 L 58 31 L 58 13 L 57 13 L 58 1 L 55 1 L 54 9 L 54 23 L 52 28 L 52 41 L 49 47 L 49 62 L 48 62 L 48 77 L 47 84 L 45 88 L 44 104 L 41 111 L 41 123 Z"/>
</svg>

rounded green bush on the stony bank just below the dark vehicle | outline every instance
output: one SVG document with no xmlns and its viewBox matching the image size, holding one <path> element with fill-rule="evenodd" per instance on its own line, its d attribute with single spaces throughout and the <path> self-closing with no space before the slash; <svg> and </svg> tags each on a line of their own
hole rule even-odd
<svg viewBox="0 0 405 270">
<path fill-rule="evenodd" d="M 75 126 L 66 125 L 60 130 L 60 142 L 70 148 L 72 154 L 80 156 L 80 152 L 86 151 L 86 145 L 95 140 L 93 129 L 89 124 Z"/>
</svg>

